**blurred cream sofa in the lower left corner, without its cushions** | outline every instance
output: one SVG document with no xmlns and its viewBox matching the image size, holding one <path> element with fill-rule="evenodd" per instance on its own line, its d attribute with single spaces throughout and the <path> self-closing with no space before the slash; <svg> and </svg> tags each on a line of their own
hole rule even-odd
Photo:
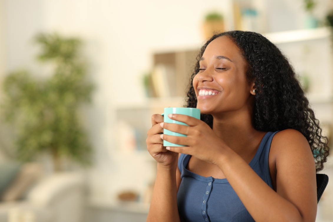
<svg viewBox="0 0 333 222">
<path fill-rule="evenodd" d="M 0 222 L 81 222 L 84 177 L 53 173 L 38 181 L 22 200 L 0 202 Z"/>
</svg>

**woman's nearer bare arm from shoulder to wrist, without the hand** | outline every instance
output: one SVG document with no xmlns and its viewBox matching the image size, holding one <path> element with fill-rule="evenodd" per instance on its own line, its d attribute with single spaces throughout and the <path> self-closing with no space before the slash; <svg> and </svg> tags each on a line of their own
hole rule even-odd
<svg viewBox="0 0 333 222">
<path fill-rule="evenodd" d="M 315 221 L 316 168 L 307 140 L 296 130 L 283 130 L 273 137 L 271 149 L 276 192 L 231 149 L 217 165 L 255 221 Z"/>
</svg>

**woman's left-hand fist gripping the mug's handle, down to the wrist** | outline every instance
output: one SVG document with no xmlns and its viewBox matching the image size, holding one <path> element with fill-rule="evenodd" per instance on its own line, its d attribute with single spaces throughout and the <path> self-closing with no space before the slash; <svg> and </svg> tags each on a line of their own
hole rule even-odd
<svg viewBox="0 0 333 222">
<path fill-rule="evenodd" d="M 147 132 L 147 148 L 149 153 L 154 157 L 154 159 L 159 162 L 162 166 L 176 166 L 178 160 L 178 153 L 171 152 L 163 146 L 163 139 L 160 134 L 163 132 L 163 128 L 160 124 L 163 122 L 163 116 L 160 114 L 152 115 L 152 128 Z"/>
</svg>

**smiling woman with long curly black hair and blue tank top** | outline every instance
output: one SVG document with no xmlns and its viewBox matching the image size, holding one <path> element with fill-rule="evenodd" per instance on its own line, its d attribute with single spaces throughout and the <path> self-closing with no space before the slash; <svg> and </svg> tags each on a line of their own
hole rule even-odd
<svg viewBox="0 0 333 222">
<path fill-rule="evenodd" d="M 147 221 L 315 221 L 327 139 L 274 44 L 253 32 L 214 35 L 187 96 L 201 120 L 152 116 L 147 146 L 158 172 Z"/>
</svg>

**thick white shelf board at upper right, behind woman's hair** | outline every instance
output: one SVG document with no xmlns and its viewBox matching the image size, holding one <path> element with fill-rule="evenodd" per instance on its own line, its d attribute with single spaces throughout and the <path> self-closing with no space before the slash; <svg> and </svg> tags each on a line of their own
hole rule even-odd
<svg viewBox="0 0 333 222">
<path fill-rule="evenodd" d="M 274 44 L 323 39 L 329 37 L 330 35 L 330 29 L 327 27 L 263 34 L 263 36 Z"/>
</svg>

